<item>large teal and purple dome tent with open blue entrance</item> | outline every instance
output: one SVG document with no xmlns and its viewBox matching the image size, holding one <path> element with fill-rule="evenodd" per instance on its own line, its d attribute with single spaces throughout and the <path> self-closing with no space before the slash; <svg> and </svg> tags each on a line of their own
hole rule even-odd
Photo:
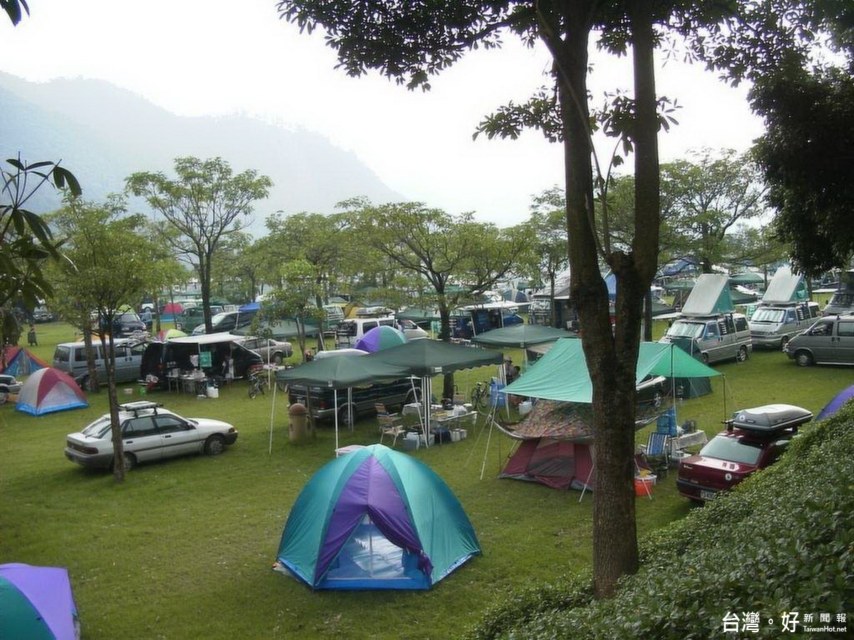
<svg viewBox="0 0 854 640">
<path fill-rule="evenodd" d="M 480 552 L 471 521 L 436 473 L 370 445 L 308 481 L 290 510 L 278 564 L 313 589 L 429 589 Z"/>
</svg>

